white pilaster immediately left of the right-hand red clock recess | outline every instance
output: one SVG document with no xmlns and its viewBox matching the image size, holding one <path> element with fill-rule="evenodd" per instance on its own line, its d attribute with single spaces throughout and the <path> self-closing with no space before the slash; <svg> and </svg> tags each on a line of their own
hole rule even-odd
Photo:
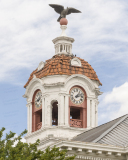
<svg viewBox="0 0 128 160">
<path fill-rule="evenodd" d="M 69 127 L 69 95 L 65 95 L 65 126 Z"/>
</svg>

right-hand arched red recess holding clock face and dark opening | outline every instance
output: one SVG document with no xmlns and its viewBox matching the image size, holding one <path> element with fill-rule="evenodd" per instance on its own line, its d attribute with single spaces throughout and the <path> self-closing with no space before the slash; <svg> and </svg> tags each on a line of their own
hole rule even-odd
<svg viewBox="0 0 128 160">
<path fill-rule="evenodd" d="M 80 86 L 70 89 L 69 98 L 69 125 L 70 127 L 87 127 L 87 95 Z"/>
</svg>

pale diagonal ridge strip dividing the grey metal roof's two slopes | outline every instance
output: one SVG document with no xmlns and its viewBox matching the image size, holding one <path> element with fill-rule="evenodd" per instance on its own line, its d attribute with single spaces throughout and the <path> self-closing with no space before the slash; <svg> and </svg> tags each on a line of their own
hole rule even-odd
<svg viewBox="0 0 128 160">
<path fill-rule="evenodd" d="M 122 118 L 121 118 L 122 117 Z M 109 129 L 107 129 L 103 134 L 101 134 L 98 138 L 96 138 L 95 140 L 93 140 L 92 142 L 96 143 L 98 142 L 101 138 L 103 138 L 106 134 L 108 134 L 112 129 L 114 129 L 118 124 L 120 124 L 121 122 L 123 122 L 126 118 L 128 118 L 128 114 L 121 116 L 119 118 L 121 118 L 117 123 L 115 123 L 112 127 L 110 127 Z M 118 118 L 116 118 L 118 119 Z M 115 119 L 115 120 L 116 120 Z M 112 121 L 110 121 L 112 122 Z"/>
</svg>

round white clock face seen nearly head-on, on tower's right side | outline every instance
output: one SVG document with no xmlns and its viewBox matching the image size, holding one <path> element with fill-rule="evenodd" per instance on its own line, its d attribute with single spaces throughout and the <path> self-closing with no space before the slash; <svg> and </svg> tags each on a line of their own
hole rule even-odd
<svg viewBox="0 0 128 160">
<path fill-rule="evenodd" d="M 75 87 L 70 91 L 70 99 L 76 105 L 82 104 L 84 102 L 84 92 L 80 88 Z"/>
</svg>

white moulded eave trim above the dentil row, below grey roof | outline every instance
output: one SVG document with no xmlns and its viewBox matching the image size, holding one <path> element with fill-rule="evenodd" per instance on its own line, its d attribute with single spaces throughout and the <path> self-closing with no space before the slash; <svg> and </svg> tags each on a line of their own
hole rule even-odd
<svg viewBox="0 0 128 160">
<path fill-rule="evenodd" d="M 47 144 L 48 141 L 53 141 L 54 143 L 52 145 L 50 145 L 50 147 L 52 148 L 54 145 L 56 145 L 56 147 L 60 147 L 60 148 L 74 148 L 74 149 L 82 149 L 84 151 L 89 151 L 92 150 L 92 152 L 95 152 L 96 154 L 102 154 L 103 152 L 105 153 L 114 153 L 115 156 L 117 156 L 117 154 L 125 154 L 128 153 L 125 149 L 125 147 L 120 147 L 120 146 L 114 146 L 114 145 L 107 145 L 107 144 L 99 144 L 99 143 L 92 143 L 92 142 L 79 142 L 79 141 L 70 141 L 70 140 L 64 140 L 64 139 L 60 139 L 58 137 L 51 137 L 51 138 L 45 138 L 43 140 L 41 140 L 40 142 L 40 147 L 42 146 L 42 142 L 43 144 Z M 42 149 L 44 149 L 44 146 L 42 147 Z"/>
</svg>

